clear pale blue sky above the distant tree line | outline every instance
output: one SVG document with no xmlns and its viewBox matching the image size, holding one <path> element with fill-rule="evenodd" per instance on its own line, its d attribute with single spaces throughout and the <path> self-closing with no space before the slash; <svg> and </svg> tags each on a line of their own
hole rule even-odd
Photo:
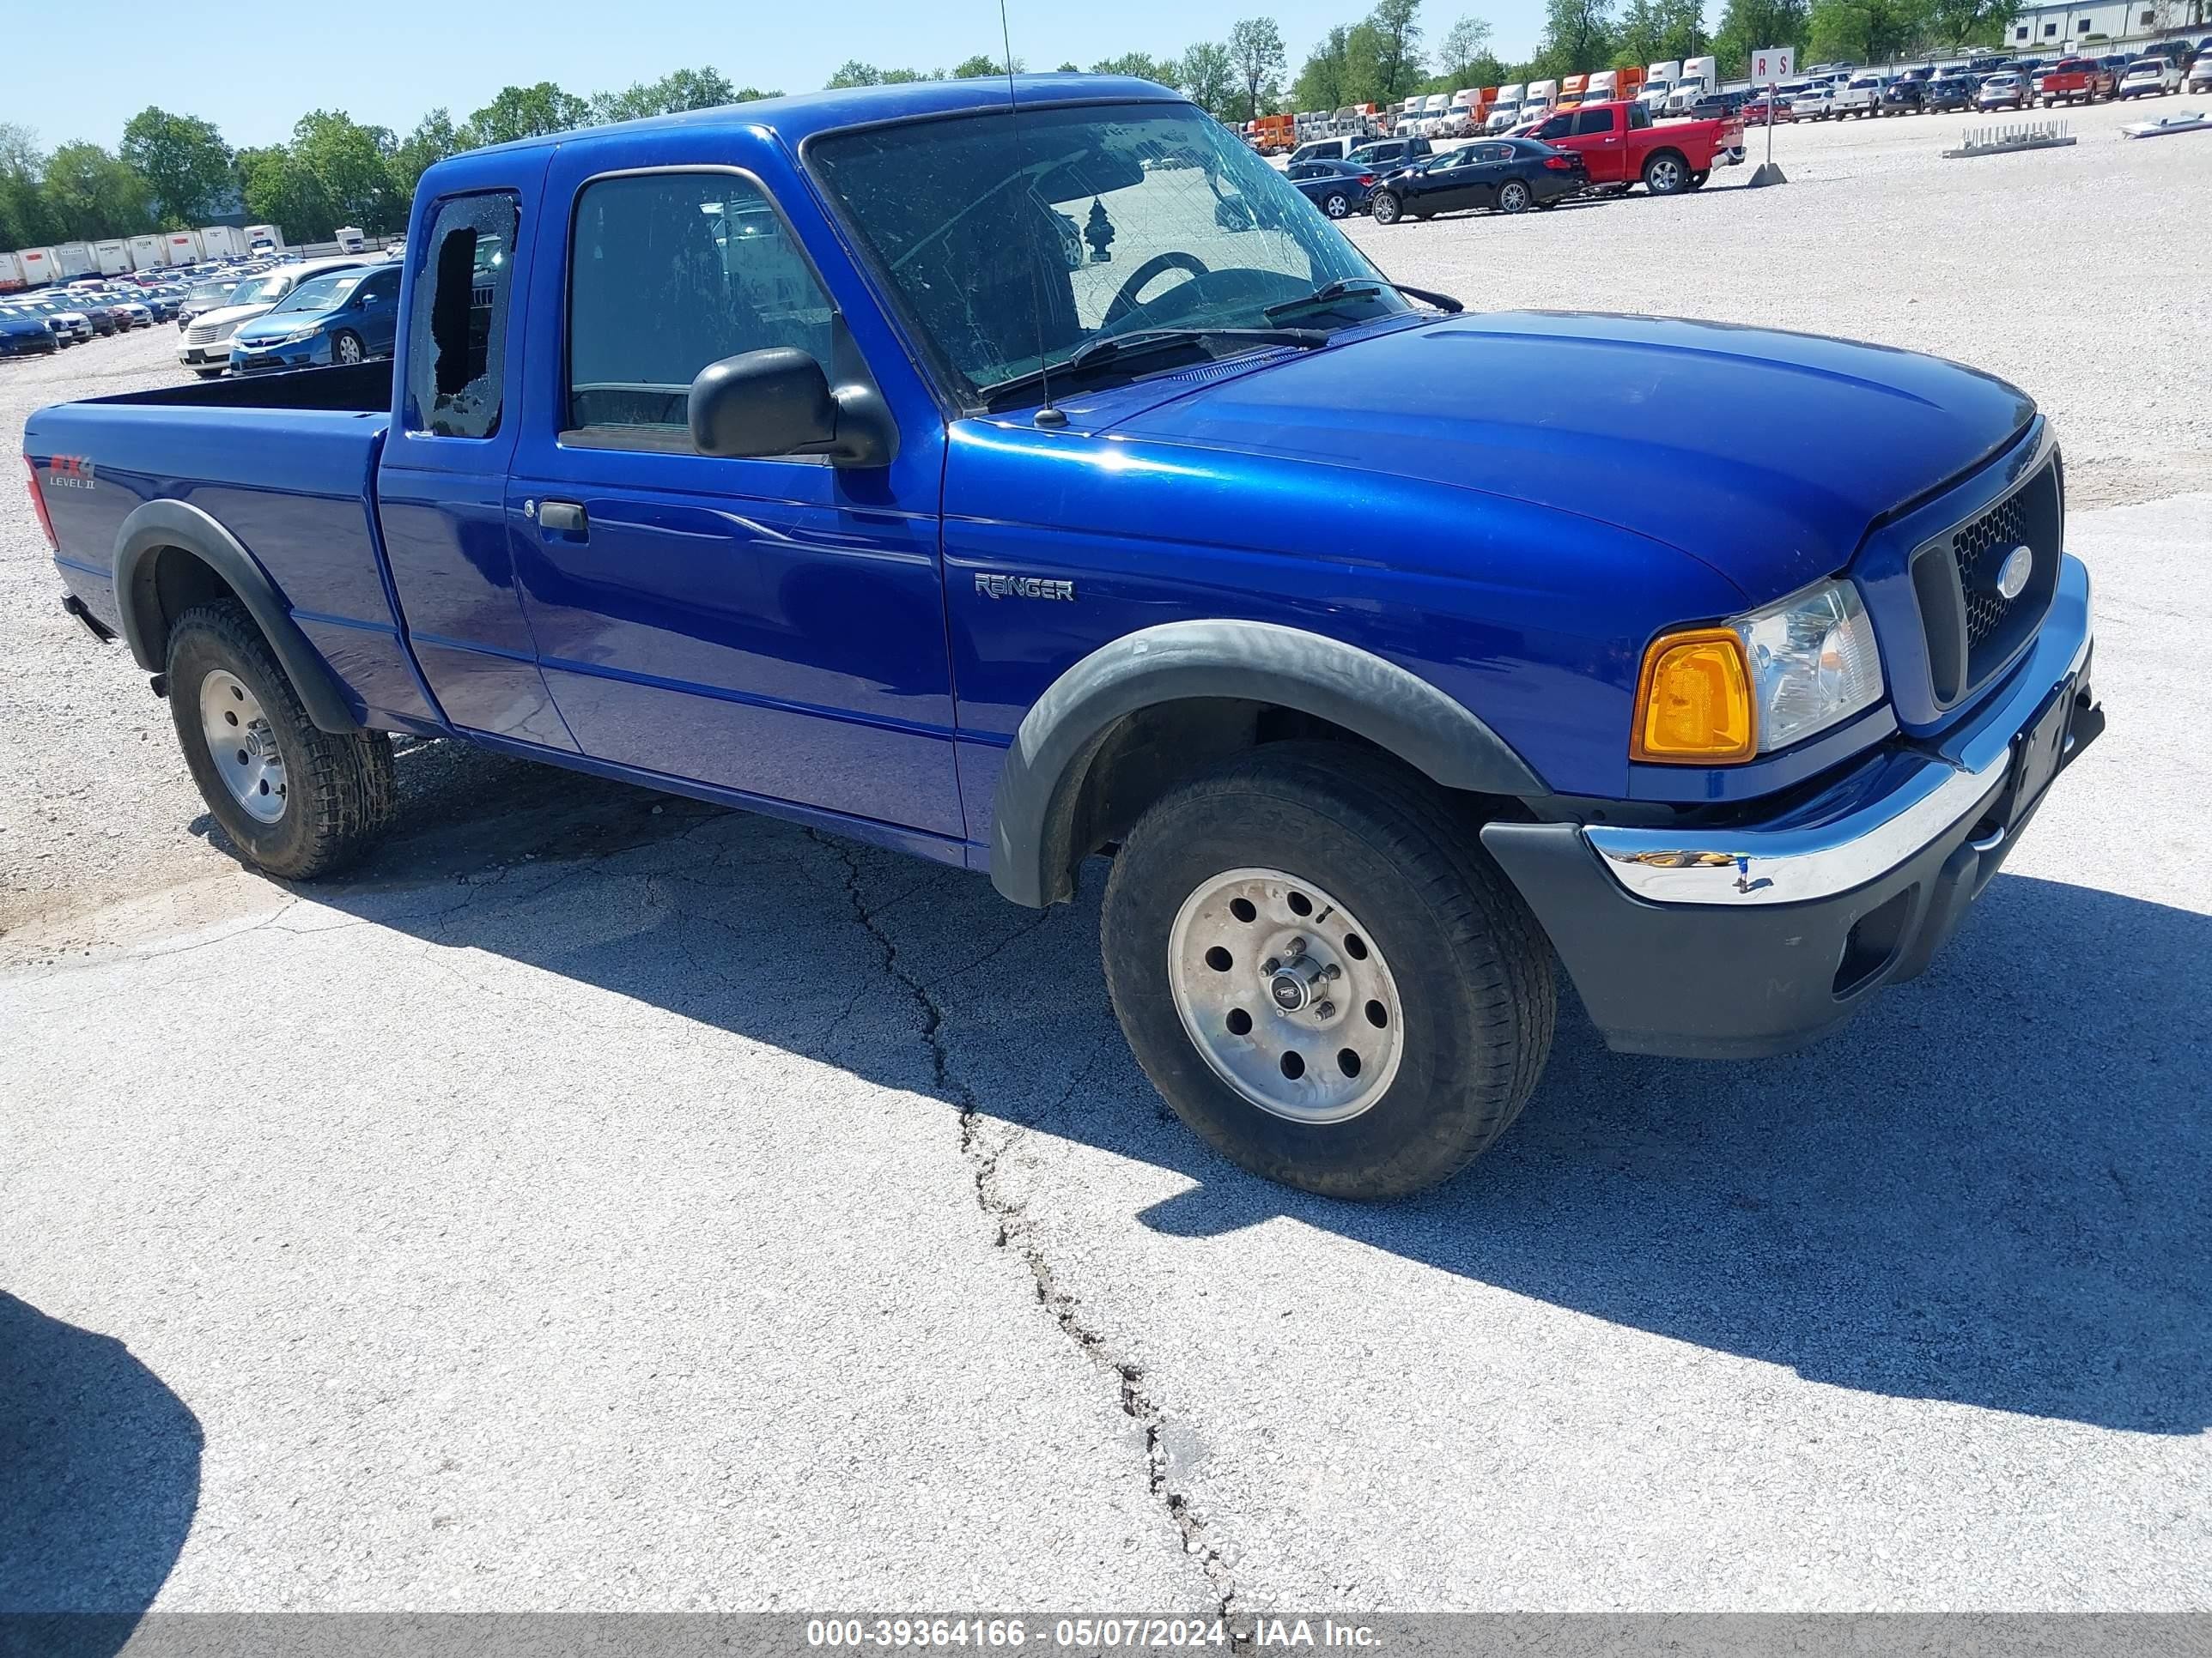
<svg viewBox="0 0 2212 1658">
<path fill-rule="evenodd" d="M 1124 51 L 1179 53 L 1228 40 L 1243 15 L 1283 29 L 1290 73 L 1336 22 L 1374 0 L 1006 0 L 1013 53 L 1031 69 L 1093 64 Z M 1433 46 L 1462 13 L 1489 18 L 1491 46 L 1524 57 L 1542 0 L 1425 0 Z M 60 15 L 60 13 L 53 13 Z M 42 148 L 115 148 L 148 104 L 215 122 L 232 146 L 276 144 L 310 108 L 407 133 L 445 104 L 460 122 L 500 86 L 560 82 L 597 93 L 712 66 L 739 86 L 821 86 L 849 57 L 949 69 L 998 53 L 998 0 L 365 0 L 363 4 L 186 7 L 111 0 L 100 31 L 64 53 L 0 57 L 0 122 Z"/>
</svg>

